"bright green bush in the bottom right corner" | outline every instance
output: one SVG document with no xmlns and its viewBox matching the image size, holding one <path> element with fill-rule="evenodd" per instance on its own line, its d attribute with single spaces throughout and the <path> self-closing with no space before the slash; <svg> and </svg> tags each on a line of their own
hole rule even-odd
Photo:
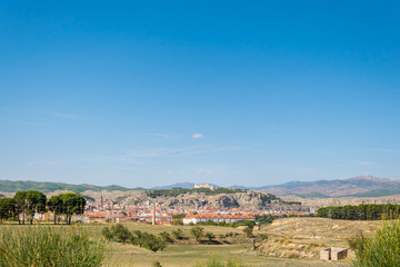
<svg viewBox="0 0 400 267">
<path fill-rule="evenodd" d="M 359 235 L 351 241 L 356 249 L 352 265 L 361 266 L 400 266 L 400 221 L 386 221 L 371 237 Z"/>
</svg>

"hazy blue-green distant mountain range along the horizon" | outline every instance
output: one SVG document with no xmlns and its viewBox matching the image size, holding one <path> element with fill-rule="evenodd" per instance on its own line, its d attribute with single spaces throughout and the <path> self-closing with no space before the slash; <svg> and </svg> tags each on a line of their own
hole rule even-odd
<svg viewBox="0 0 400 267">
<path fill-rule="evenodd" d="M 217 185 L 212 185 L 219 187 Z M 153 187 L 151 189 L 171 189 L 176 187 L 193 188 L 193 182 L 178 182 L 169 186 Z M 42 182 L 42 181 L 11 181 L 0 180 L 0 191 L 14 192 L 19 190 L 39 190 L 51 192 L 56 190 L 68 190 L 82 192 L 93 191 L 128 191 L 144 190 L 144 188 L 126 188 L 121 186 L 92 186 L 92 185 L 69 185 L 63 182 Z M 317 180 L 317 181 L 290 181 L 274 186 L 244 187 L 232 186 L 238 189 L 261 190 L 277 196 L 298 196 L 303 198 L 328 198 L 328 197 L 381 197 L 400 194 L 400 180 L 377 178 L 373 176 L 359 176 L 349 179 Z"/>
</svg>

